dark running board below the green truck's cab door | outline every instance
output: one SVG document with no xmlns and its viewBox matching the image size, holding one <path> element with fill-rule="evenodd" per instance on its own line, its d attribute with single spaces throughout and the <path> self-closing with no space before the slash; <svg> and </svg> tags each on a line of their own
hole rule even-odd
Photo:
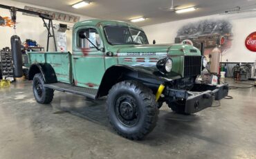
<svg viewBox="0 0 256 159">
<path fill-rule="evenodd" d="M 83 95 L 86 97 L 89 97 L 93 100 L 96 99 L 98 89 L 93 89 L 93 88 L 84 88 L 80 86 L 73 86 L 71 84 L 65 84 L 62 82 L 57 82 L 54 84 L 44 84 L 46 88 L 51 88 L 56 91 L 62 91 L 62 92 L 68 92 L 68 93 L 73 93 L 76 95 Z"/>
</svg>

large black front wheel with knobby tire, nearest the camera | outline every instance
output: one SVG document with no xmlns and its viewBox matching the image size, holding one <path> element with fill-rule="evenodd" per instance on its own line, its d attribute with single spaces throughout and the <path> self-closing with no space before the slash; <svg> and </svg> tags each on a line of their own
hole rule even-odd
<svg viewBox="0 0 256 159">
<path fill-rule="evenodd" d="M 130 140 L 140 140 L 156 127 L 157 107 L 152 90 L 136 81 L 114 85 L 107 97 L 111 126 L 119 135 Z"/>
</svg>

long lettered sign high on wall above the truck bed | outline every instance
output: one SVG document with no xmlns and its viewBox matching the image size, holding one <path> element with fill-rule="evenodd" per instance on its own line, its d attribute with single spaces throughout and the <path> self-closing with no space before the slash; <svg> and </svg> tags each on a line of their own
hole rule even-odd
<svg viewBox="0 0 256 159">
<path fill-rule="evenodd" d="M 42 9 L 39 9 L 39 8 L 30 7 L 30 6 L 25 6 L 24 9 L 25 10 L 31 10 L 31 11 L 34 11 L 34 12 L 41 12 L 41 13 L 44 13 L 44 14 L 47 14 L 47 15 L 51 15 L 53 17 L 53 19 L 57 20 L 57 21 L 66 21 L 68 23 L 76 23 L 80 20 L 80 17 L 78 17 L 78 16 L 67 15 L 67 14 L 64 14 L 62 12 L 53 12 L 53 11 L 50 11 L 50 10 L 42 10 Z M 26 12 L 23 12 L 23 15 L 37 17 L 36 15 L 30 15 Z"/>
</svg>

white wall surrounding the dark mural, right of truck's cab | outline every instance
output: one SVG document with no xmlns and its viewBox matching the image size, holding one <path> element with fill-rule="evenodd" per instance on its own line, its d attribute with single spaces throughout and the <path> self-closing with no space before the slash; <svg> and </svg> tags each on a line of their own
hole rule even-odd
<svg viewBox="0 0 256 159">
<path fill-rule="evenodd" d="M 194 19 L 185 19 L 181 21 L 172 21 L 164 24 L 145 26 L 149 41 L 152 43 L 156 39 L 157 44 L 171 44 L 177 35 L 179 28 L 188 24 L 196 23 L 203 19 L 228 19 L 232 24 L 234 34 L 232 46 L 223 53 L 222 62 L 255 62 L 256 53 L 247 50 L 245 39 L 251 33 L 256 31 L 256 12 L 246 12 L 232 15 L 212 15 Z"/>
</svg>

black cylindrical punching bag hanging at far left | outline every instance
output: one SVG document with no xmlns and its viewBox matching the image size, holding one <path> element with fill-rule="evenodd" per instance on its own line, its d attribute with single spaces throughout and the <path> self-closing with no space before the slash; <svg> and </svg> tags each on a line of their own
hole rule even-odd
<svg viewBox="0 0 256 159">
<path fill-rule="evenodd" d="M 21 39 L 17 35 L 12 35 L 10 44 L 12 46 L 13 77 L 22 77 Z"/>
</svg>

